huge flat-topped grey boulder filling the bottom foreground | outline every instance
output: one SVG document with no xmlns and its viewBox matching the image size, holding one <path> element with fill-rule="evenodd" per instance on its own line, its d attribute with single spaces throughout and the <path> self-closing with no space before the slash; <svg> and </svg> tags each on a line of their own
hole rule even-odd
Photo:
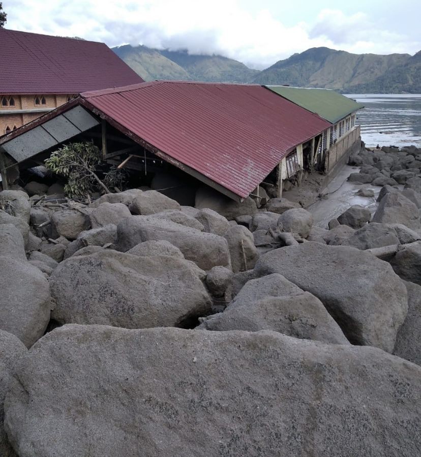
<svg viewBox="0 0 421 457">
<path fill-rule="evenodd" d="M 17 376 L 5 427 L 19 457 L 413 457 L 421 446 L 421 368 L 376 348 L 69 325 Z"/>
</svg>

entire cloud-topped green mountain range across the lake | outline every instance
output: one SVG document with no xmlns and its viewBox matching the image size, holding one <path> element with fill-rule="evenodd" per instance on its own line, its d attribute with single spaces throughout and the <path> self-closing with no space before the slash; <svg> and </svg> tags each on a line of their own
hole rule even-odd
<svg viewBox="0 0 421 457">
<path fill-rule="evenodd" d="M 421 51 L 409 54 L 352 54 L 311 48 L 263 71 L 221 55 L 194 55 L 132 47 L 113 48 L 143 79 L 255 82 L 334 89 L 348 93 L 421 93 Z"/>
</svg>

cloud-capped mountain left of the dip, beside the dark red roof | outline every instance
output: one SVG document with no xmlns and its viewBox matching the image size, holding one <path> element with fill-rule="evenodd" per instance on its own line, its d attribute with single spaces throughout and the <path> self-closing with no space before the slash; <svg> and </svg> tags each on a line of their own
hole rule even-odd
<svg viewBox="0 0 421 457">
<path fill-rule="evenodd" d="M 112 50 L 145 81 L 182 79 L 214 82 L 251 82 L 259 73 L 222 55 L 195 55 L 146 46 L 119 46 Z"/>
</svg>

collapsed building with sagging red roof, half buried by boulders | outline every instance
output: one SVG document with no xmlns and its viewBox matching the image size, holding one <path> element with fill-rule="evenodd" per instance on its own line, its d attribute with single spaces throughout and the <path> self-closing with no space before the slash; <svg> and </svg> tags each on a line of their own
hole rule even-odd
<svg viewBox="0 0 421 457">
<path fill-rule="evenodd" d="M 329 172 L 360 142 L 355 112 L 361 105 L 335 94 L 342 104 L 332 117 L 282 92 L 257 84 L 153 81 L 81 93 L 0 137 L 3 187 L 11 170 L 43 164 L 64 144 L 92 140 L 104 162 L 148 182 L 173 176 L 237 202 L 259 197 L 260 186 L 279 197 L 285 181 L 299 181 L 303 170 Z"/>
</svg>

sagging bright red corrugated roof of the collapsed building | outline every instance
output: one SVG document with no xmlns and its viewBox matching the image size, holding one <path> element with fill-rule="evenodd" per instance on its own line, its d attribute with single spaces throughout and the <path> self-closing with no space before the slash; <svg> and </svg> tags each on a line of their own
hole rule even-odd
<svg viewBox="0 0 421 457">
<path fill-rule="evenodd" d="M 260 85 L 155 81 L 81 94 L 166 155 L 246 197 L 330 123 Z"/>
</svg>

